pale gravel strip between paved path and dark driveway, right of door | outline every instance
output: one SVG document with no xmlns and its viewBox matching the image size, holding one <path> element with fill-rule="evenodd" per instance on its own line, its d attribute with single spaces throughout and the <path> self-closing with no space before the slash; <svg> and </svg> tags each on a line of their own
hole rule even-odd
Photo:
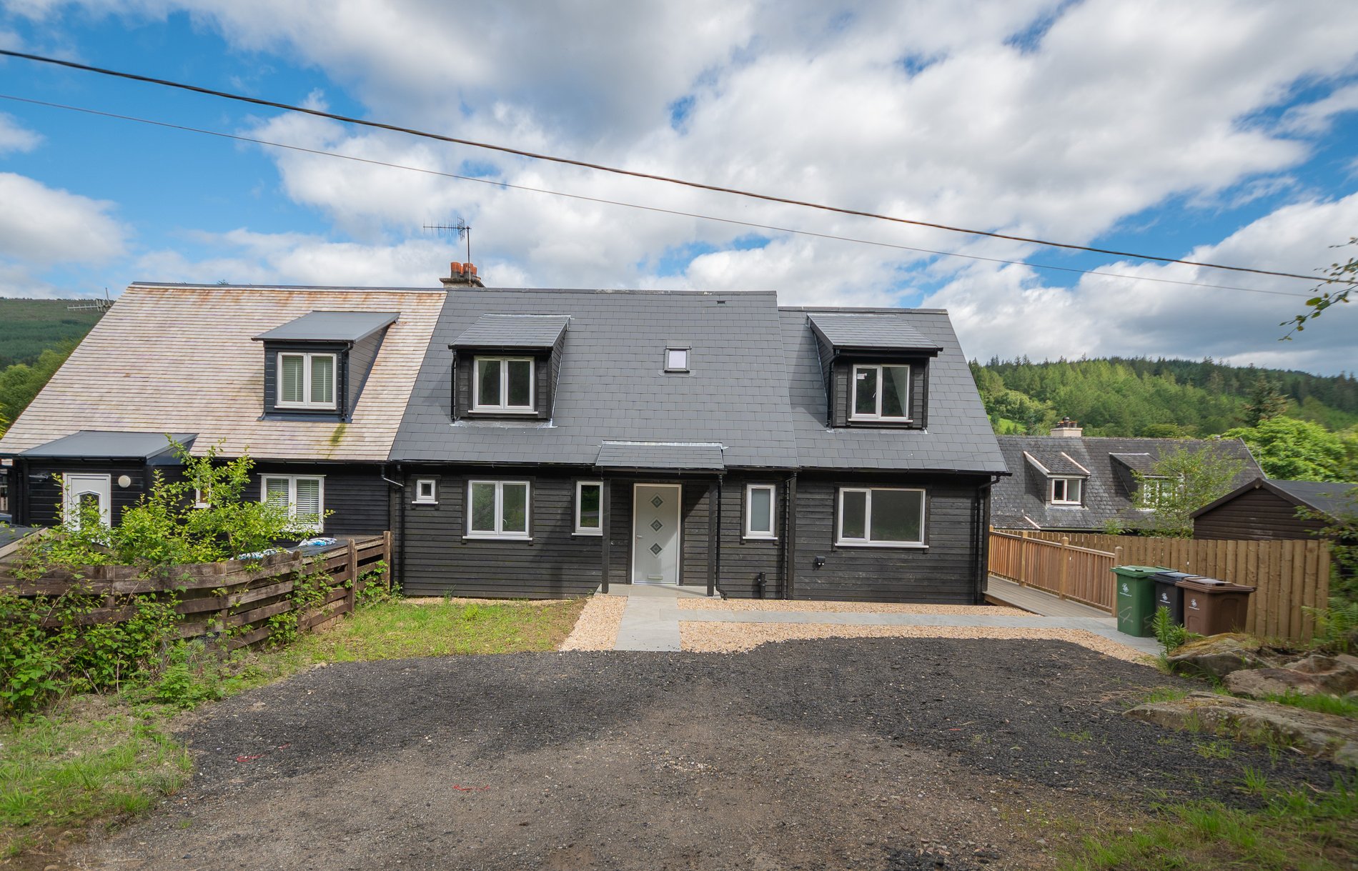
<svg viewBox="0 0 1358 871">
<path fill-rule="evenodd" d="M 1150 657 L 1134 647 L 1119 644 L 1086 630 L 1047 630 L 968 625 L 842 625 L 831 623 L 679 623 L 683 650 L 695 653 L 739 653 L 771 642 L 818 638 L 967 638 L 967 639 L 1035 639 L 1071 642 L 1081 647 L 1138 665 L 1150 665 Z"/>
</svg>

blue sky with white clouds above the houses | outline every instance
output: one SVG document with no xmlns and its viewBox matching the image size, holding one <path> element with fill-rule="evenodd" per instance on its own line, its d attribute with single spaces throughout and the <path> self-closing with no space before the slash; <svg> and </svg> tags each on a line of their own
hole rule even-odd
<svg viewBox="0 0 1358 871">
<path fill-rule="evenodd" d="M 1358 23 L 1339 1 L 771 4 L 14 0 L 0 46 L 904 217 L 1312 274 L 1358 235 Z M 134 279 L 777 289 L 948 308 L 968 354 L 1353 370 L 1358 305 L 755 204 L 0 61 L 0 94 L 1109 279 L 512 191 L 0 99 L 0 293 Z M 1358 254 L 1358 252 L 1355 252 Z M 460 256 L 459 256 L 460 259 Z"/>
</svg>

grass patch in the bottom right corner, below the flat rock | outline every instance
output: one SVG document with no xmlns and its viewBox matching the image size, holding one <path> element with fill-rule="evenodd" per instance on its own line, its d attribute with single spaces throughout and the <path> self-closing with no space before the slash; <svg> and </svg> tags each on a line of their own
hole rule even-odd
<svg viewBox="0 0 1358 871">
<path fill-rule="evenodd" d="M 1154 815 L 1086 836 L 1066 848 L 1063 871 L 1350 868 L 1358 855 L 1358 788 L 1339 780 L 1327 792 L 1281 792 L 1245 772 L 1244 792 L 1266 796 L 1259 810 L 1215 800 L 1160 805 Z"/>
</svg>

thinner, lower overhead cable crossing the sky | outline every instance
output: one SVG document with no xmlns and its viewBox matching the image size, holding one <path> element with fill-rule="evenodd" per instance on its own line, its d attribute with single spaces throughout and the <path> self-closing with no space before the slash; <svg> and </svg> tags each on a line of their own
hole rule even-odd
<svg viewBox="0 0 1358 871">
<path fill-rule="evenodd" d="M 568 199 L 580 199 L 580 201 L 584 201 L 584 202 L 596 202 L 596 204 L 600 204 L 600 205 L 621 206 L 621 208 L 626 208 L 626 209 L 640 209 L 642 212 L 656 212 L 656 213 L 660 213 L 660 214 L 674 214 L 674 216 L 679 216 L 679 217 L 691 217 L 691 218 L 697 218 L 697 220 L 702 220 L 702 221 L 716 221 L 716 222 L 720 222 L 720 224 L 733 224 L 733 225 L 737 225 L 737 227 L 748 227 L 751 229 L 766 229 L 766 231 L 771 231 L 771 232 L 792 233 L 792 235 L 797 235 L 797 236 L 812 236 L 812 237 L 816 237 L 816 239 L 830 239 L 830 240 L 835 240 L 835 241 L 849 241 L 849 243 L 854 243 L 854 244 L 875 246 L 875 247 L 880 247 L 880 248 L 895 248 L 898 251 L 917 251 L 919 254 L 933 254 L 933 255 L 938 255 L 938 256 L 963 258 L 963 259 L 967 259 L 967 260 L 982 260 L 982 262 L 986 262 L 986 263 L 1006 263 L 1009 266 L 1027 266 L 1029 269 L 1046 269 L 1046 270 L 1054 270 L 1054 271 L 1062 271 L 1062 273 L 1076 273 L 1076 274 L 1081 274 L 1081 275 L 1100 275 L 1100 277 L 1105 277 L 1105 278 L 1120 278 L 1120 279 L 1126 279 L 1126 281 L 1153 281 L 1156 284 L 1183 285 L 1183 286 L 1190 286 L 1190 288 L 1207 288 L 1207 289 L 1213 289 L 1213 290 L 1240 290 L 1240 292 L 1244 292 L 1244 293 L 1267 293 L 1267 294 L 1271 294 L 1271 296 L 1290 296 L 1290 297 L 1301 297 L 1301 298 L 1305 298 L 1305 297 L 1310 296 L 1309 293 L 1294 293 L 1294 292 L 1290 292 L 1290 290 L 1264 290 L 1262 288 L 1237 288 L 1237 286 L 1232 286 L 1232 285 L 1217 285 L 1217 284 L 1207 284 L 1207 282 L 1202 282 L 1202 281 L 1181 281 L 1181 279 L 1176 279 L 1176 278 L 1156 278 L 1156 277 L 1152 277 L 1152 275 L 1127 275 L 1126 273 L 1109 273 L 1109 271 L 1095 270 L 1095 269 L 1076 269 L 1073 266 L 1052 266 L 1050 263 L 1032 263 L 1032 262 L 1028 262 L 1028 260 L 1008 260 L 1008 259 L 1004 259 L 1004 258 L 980 256 L 980 255 L 976 255 L 976 254 L 960 254 L 957 251 L 937 251 L 937 250 L 933 250 L 933 248 L 918 248 L 918 247 L 914 247 L 914 246 L 903 246 L 903 244 L 892 243 L 892 241 L 879 241 L 879 240 L 873 240 L 873 239 L 858 239 L 858 237 L 854 237 L 854 236 L 839 236 L 839 235 L 835 235 L 835 233 L 822 233 L 822 232 L 809 231 L 809 229 L 796 229 L 796 228 L 790 228 L 790 227 L 778 227 L 778 225 L 774 225 L 774 224 L 758 224 L 755 221 L 744 221 L 744 220 L 740 220 L 740 218 L 717 217 L 717 216 L 713 216 L 713 214 L 702 214 L 702 213 L 698 213 L 698 212 L 683 212 L 683 210 L 679 210 L 679 209 L 665 209 L 663 206 L 646 206 L 646 205 L 641 205 L 641 204 L 636 204 L 636 202 L 625 202 L 625 201 L 621 201 L 621 199 L 606 199 L 603 197 L 588 197 L 585 194 L 570 194 L 570 193 L 566 193 L 566 191 L 550 190 L 550 189 L 546 189 L 546 187 L 531 187 L 531 186 L 527 186 L 527 185 L 512 185 L 509 182 L 497 182 L 494 179 L 477 178 L 477 176 L 473 176 L 473 175 L 458 175 L 456 172 L 444 172 L 441 170 L 429 170 L 429 168 L 425 168 L 425 167 L 411 167 L 411 166 L 407 166 L 407 164 L 390 163 L 390 161 L 386 161 L 386 160 L 373 160 L 371 157 L 359 157 L 359 156 L 354 156 L 354 155 L 344 155 L 344 153 L 340 153 L 340 152 L 325 151 L 325 149 L 320 149 L 320 148 L 307 148 L 304 145 L 289 145 L 287 142 L 274 142 L 274 141 L 270 141 L 270 140 L 261 140 L 261 138 L 255 138 L 255 137 L 250 137 L 250 136 L 240 136 L 240 134 L 236 134 L 236 133 L 223 133 L 221 130 L 206 130 L 204 128 L 191 128 L 191 126 L 182 125 L 182 123 L 171 123 L 168 121 L 155 121 L 152 118 L 139 118 L 136 115 L 122 115 L 122 114 L 118 114 L 118 113 L 110 113 L 110 111 L 103 111 L 103 110 L 98 110 L 98 109 L 88 109 L 88 107 L 84 107 L 84 106 L 68 106 L 68 104 L 64 104 L 64 103 L 52 103 L 52 102 L 48 102 L 48 100 L 35 100 L 35 99 L 31 99 L 31 98 L 27 98 L 27 96 L 15 96 L 12 94 L 0 94 L 0 99 L 14 100 L 16 103 L 29 103 L 29 104 L 33 104 L 33 106 L 46 106 L 48 109 L 62 109 L 62 110 L 68 110 L 68 111 L 77 111 L 77 113 L 88 114 L 88 115 L 98 115 L 98 117 L 102 117 L 102 118 L 115 118 L 118 121 L 133 121 L 133 122 L 137 122 L 137 123 L 145 123 L 145 125 L 151 125 L 151 126 L 166 128 L 166 129 L 170 129 L 170 130 L 182 130 L 182 132 L 186 132 L 186 133 L 201 133 L 201 134 L 205 134 L 205 136 L 215 136 L 215 137 L 224 138 L 224 140 L 234 140 L 234 141 L 238 141 L 238 142 L 251 142 L 254 145 L 266 145 L 266 147 L 270 147 L 270 148 L 281 148 L 281 149 L 287 149 L 287 151 L 296 151 L 296 152 L 303 152 L 303 153 L 307 153 L 307 155 L 319 155 L 319 156 L 323 156 L 323 157 L 337 157 L 337 159 L 341 159 L 341 160 L 352 160 L 354 163 L 364 163 L 364 164 L 369 164 L 369 166 L 375 166 L 375 167 L 386 167 L 386 168 L 390 168 L 390 170 L 405 170 L 405 171 L 409 171 L 409 172 L 422 172 L 425 175 L 436 175 L 436 176 L 448 178 L 448 179 L 458 179 L 458 180 L 462 180 L 462 182 L 475 182 L 478 185 L 489 185 L 492 187 L 501 187 L 501 189 L 508 189 L 508 190 L 521 190 L 521 191 L 530 191 L 530 193 L 535 193 L 535 194 L 549 194 L 551 197 L 564 197 L 564 198 L 568 198 Z"/>
</svg>

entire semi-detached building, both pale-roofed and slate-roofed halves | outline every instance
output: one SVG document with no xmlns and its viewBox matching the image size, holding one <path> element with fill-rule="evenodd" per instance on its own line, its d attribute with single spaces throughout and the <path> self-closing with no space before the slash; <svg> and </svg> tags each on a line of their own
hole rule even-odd
<svg viewBox="0 0 1358 871">
<path fill-rule="evenodd" d="M 982 601 L 1006 469 L 945 312 L 456 266 L 443 290 L 133 285 L 0 440 L 20 522 L 117 517 L 171 433 L 249 449 L 254 495 L 319 530 L 391 529 L 413 594 Z"/>
</svg>

